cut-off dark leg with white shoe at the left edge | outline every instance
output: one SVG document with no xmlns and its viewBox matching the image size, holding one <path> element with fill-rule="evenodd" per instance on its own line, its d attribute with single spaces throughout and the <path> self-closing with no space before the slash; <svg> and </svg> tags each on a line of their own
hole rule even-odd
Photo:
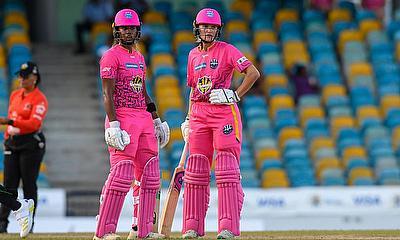
<svg viewBox="0 0 400 240">
<path fill-rule="evenodd" d="M 12 210 L 20 227 L 20 237 L 24 238 L 28 236 L 32 228 L 33 209 L 35 208 L 33 200 L 17 200 L 3 185 L 0 185 L 0 203 Z"/>
</svg>

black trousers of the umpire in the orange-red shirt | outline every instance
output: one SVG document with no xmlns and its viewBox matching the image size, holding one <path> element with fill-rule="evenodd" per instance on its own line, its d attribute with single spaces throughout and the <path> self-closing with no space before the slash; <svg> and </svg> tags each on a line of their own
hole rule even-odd
<svg viewBox="0 0 400 240">
<path fill-rule="evenodd" d="M 37 184 L 40 164 L 46 149 L 42 133 L 33 133 L 8 138 L 4 142 L 4 187 L 18 197 L 18 187 L 22 180 L 25 199 L 33 199 L 37 206 Z M 7 226 L 11 209 L 4 204 L 0 207 L 0 224 Z M 34 211 L 34 215 L 35 215 Z"/>
</svg>

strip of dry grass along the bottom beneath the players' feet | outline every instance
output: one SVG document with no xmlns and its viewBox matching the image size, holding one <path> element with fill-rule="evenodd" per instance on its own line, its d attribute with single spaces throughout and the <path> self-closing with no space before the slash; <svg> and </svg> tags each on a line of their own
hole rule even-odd
<svg viewBox="0 0 400 240">
<path fill-rule="evenodd" d="M 122 239 L 126 239 L 128 233 L 122 233 Z M 92 239 L 93 233 L 52 233 L 40 234 L 35 233 L 28 236 L 27 239 L 43 239 L 43 240 L 62 240 L 62 239 Z M 174 233 L 173 238 L 179 239 L 180 234 Z M 20 239 L 17 234 L 0 234 L 0 239 Z M 201 239 L 216 239 L 216 233 L 208 233 L 206 237 Z M 274 239 L 274 240 L 400 240 L 400 230 L 376 230 L 376 231 L 268 231 L 268 232 L 242 232 L 239 239 Z"/>
</svg>

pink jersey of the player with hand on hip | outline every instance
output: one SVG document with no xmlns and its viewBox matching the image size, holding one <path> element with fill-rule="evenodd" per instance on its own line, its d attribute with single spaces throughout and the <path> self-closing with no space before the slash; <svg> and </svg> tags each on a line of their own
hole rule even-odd
<svg viewBox="0 0 400 240">
<path fill-rule="evenodd" d="M 191 100 L 208 102 L 211 89 L 229 88 L 233 71 L 243 72 L 252 63 L 231 44 L 217 41 L 207 51 L 193 48 L 188 57 L 187 85 Z"/>
</svg>

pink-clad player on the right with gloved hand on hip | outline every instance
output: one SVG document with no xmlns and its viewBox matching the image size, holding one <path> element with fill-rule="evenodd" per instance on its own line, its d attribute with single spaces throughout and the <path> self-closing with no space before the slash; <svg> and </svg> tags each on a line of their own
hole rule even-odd
<svg viewBox="0 0 400 240">
<path fill-rule="evenodd" d="M 199 11 L 193 32 L 199 45 L 188 57 L 189 111 L 182 135 L 190 156 L 184 176 L 183 238 L 204 236 L 209 203 L 210 167 L 216 150 L 218 239 L 240 235 L 243 190 L 240 183 L 242 122 L 236 105 L 260 77 L 254 65 L 231 44 L 217 41 L 222 28 L 219 13 Z M 245 75 L 238 89 L 229 89 L 234 70 Z"/>
</svg>

